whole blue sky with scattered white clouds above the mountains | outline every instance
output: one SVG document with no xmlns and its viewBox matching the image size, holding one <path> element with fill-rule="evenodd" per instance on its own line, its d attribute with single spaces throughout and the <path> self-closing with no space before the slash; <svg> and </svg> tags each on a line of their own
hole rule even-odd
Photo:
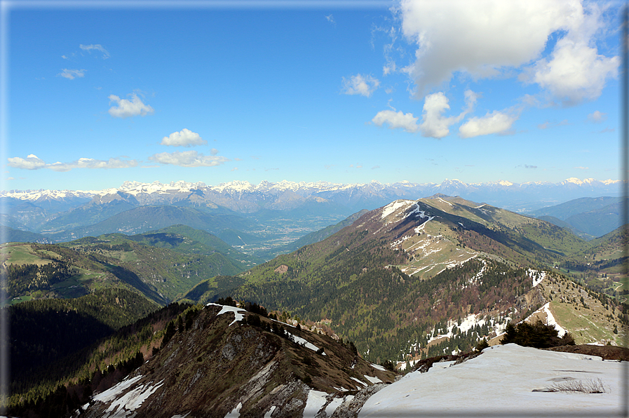
<svg viewBox="0 0 629 418">
<path fill-rule="evenodd" d="M 3 189 L 618 179 L 618 3 L 3 1 Z"/>
</svg>

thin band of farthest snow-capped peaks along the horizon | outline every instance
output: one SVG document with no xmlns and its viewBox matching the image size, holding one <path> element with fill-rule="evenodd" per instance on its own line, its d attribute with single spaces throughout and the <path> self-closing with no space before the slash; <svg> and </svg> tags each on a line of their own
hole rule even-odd
<svg viewBox="0 0 629 418">
<path fill-rule="evenodd" d="M 0 192 L 0 198 L 13 198 L 20 201 L 30 201 L 37 205 L 43 202 L 64 201 L 66 205 L 86 203 L 95 196 L 116 194 L 123 192 L 135 196 L 138 201 L 147 203 L 166 203 L 179 201 L 192 195 L 212 201 L 237 211 L 255 211 L 256 207 L 267 207 L 273 196 L 280 196 L 292 192 L 302 198 L 316 196 L 325 198 L 354 209 L 373 209 L 386 204 L 396 198 L 421 198 L 441 193 L 449 196 L 461 196 L 472 201 L 487 201 L 511 210 L 518 210 L 521 206 L 541 208 L 561 203 L 572 198 L 584 196 L 618 196 L 619 180 L 598 181 L 594 179 L 579 180 L 574 177 L 560 183 L 526 182 L 513 183 L 505 180 L 485 183 L 465 183 L 461 180 L 444 180 L 436 183 L 412 183 L 408 181 L 395 183 L 380 183 L 375 180 L 369 183 L 341 184 L 332 182 L 260 182 L 251 184 L 246 181 L 225 182 L 217 185 L 207 185 L 203 182 L 161 182 L 142 183 L 135 181 L 124 182 L 121 187 L 103 189 L 100 191 L 71 191 L 71 190 L 11 190 Z M 244 200 L 253 205 L 243 205 L 231 200 Z M 265 201 L 261 205 L 259 201 Z"/>
</svg>

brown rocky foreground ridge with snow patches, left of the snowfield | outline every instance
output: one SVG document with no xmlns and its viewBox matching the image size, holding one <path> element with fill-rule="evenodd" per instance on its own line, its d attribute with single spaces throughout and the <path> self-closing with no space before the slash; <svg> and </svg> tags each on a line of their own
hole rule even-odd
<svg viewBox="0 0 629 418">
<path fill-rule="evenodd" d="M 269 411 L 299 417 L 315 396 L 340 403 L 395 377 L 330 337 L 244 309 L 210 304 L 181 317 L 186 323 L 164 337 L 161 349 L 121 384 L 88 400 L 82 416 L 117 410 L 146 417 Z"/>
</svg>

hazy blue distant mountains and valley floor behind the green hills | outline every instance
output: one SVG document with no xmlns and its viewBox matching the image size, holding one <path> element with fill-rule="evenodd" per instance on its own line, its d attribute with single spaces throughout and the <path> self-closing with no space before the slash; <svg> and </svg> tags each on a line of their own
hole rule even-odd
<svg viewBox="0 0 629 418">
<path fill-rule="evenodd" d="M 306 234 L 337 224 L 359 210 L 379 208 L 399 198 L 417 199 L 435 194 L 462 196 L 496 207 L 527 210 L 532 216 L 548 216 L 542 209 L 548 205 L 564 204 L 562 202 L 583 196 L 600 199 L 599 196 L 606 195 L 610 196 L 606 199 L 613 199 L 618 195 L 618 187 L 619 182 L 614 180 L 575 178 L 556 184 L 504 181 L 466 184 L 445 180 L 441 184 L 283 181 L 208 186 L 183 181 L 170 184 L 124 182 L 121 187 L 100 191 L 3 191 L 0 193 L 0 225 L 5 227 L 4 242 L 28 239 L 51 243 L 114 232 L 140 234 L 173 224 L 187 224 L 215 234 L 243 251 L 271 259 L 295 250 L 295 245 L 303 245 L 305 241 L 290 244 Z M 593 216 L 604 219 L 592 222 Z M 609 210 L 566 218 L 545 219 L 569 227 L 586 239 L 602 236 L 619 226 Z M 27 236 L 24 232 L 41 235 Z M 12 240 L 6 234 L 16 238 Z"/>
</svg>

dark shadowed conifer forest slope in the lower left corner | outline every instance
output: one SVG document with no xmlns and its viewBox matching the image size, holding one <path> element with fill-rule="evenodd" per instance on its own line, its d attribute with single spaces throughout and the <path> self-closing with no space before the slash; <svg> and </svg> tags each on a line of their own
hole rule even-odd
<svg viewBox="0 0 629 418">
<path fill-rule="evenodd" d="M 112 295 L 114 299 L 109 299 Z M 106 290 L 71 301 L 48 299 L 10 309 L 15 314 L 12 328 L 24 335 L 11 344 L 18 353 L 10 397 L 3 405 L 11 416 L 69 416 L 93 391 L 113 386 L 142 365 L 144 356 L 150 358 L 167 324 L 190 309 L 186 304 L 162 309 L 152 305 L 142 313 L 145 301 L 129 295 Z M 81 316 L 79 321 L 68 321 L 76 316 Z M 46 329 L 38 328 L 33 321 L 38 318 Z"/>
</svg>

